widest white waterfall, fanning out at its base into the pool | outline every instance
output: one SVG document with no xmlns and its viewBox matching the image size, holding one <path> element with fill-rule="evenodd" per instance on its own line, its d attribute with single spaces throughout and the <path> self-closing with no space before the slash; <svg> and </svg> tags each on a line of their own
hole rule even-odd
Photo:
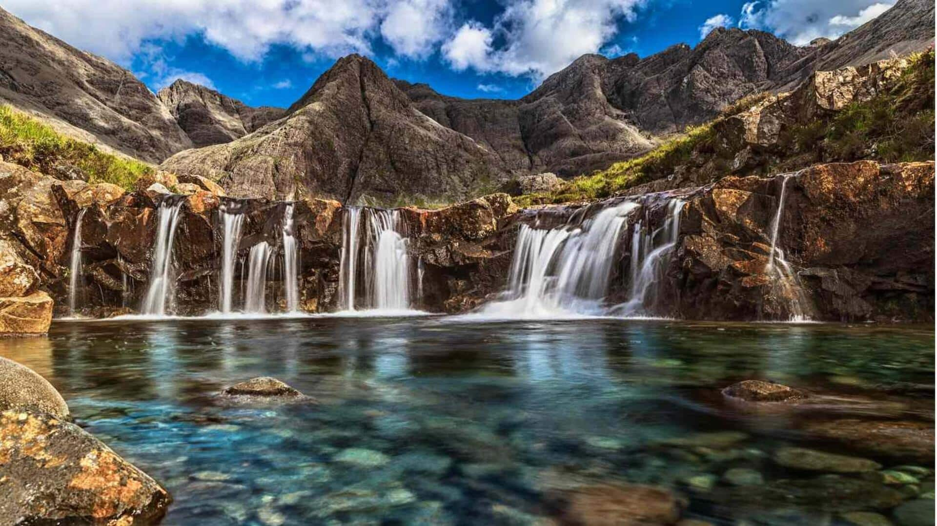
<svg viewBox="0 0 937 526">
<path fill-rule="evenodd" d="M 622 227 L 639 206 L 625 201 L 586 220 L 576 214 L 566 225 L 549 230 L 522 225 L 506 300 L 486 306 L 483 313 L 602 314 Z"/>
</svg>

